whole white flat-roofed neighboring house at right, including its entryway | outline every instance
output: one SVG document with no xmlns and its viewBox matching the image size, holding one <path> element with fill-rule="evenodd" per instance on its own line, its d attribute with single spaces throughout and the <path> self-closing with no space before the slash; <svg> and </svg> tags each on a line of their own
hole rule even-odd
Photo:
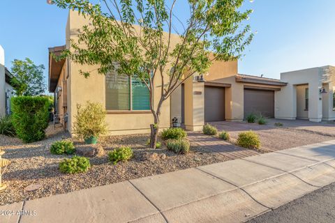
<svg viewBox="0 0 335 223">
<path fill-rule="evenodd" d="M 276 95 L 276 118 L 335 120 L 335 67 L 283 72 L 281 80 L 288 85 Z"/>
</svg>

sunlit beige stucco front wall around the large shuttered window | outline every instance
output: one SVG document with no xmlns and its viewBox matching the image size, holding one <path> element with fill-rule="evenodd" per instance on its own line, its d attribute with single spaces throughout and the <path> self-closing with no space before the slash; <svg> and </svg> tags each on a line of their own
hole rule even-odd
<svg viewBox="0 0 335 223">
<path fill-rule="evenodd" d="M 78 15 L 77 12 L 70 11 L 68 24 L 66 27 L 67 47 L 70 48 L 69 40 L 77 39 L 77 30 L 83 25 L 89 24 L 89 20 Z M 172 36 L 172 47 L 178 42 L 177 36 Z M 68 130 L 73 129 L 74 116 L 77 114 L 77 104 L 83 105 L 87 100 L 99 102 L 105 106 L 105 76 L 99 75 L 96 69 L 98 66 L 81 66 L 69 62 L 68 79 Z M 91 70 L 91 75 L 84 78 L 80 75 L 80 70 Z M 166 73 L 170 71 L 165 70 Z M 165 74 L 165 80 L 168 75 Z M 154 82 L 154 104 L 158 104 L 161 93 L 161 77 L 156 75 Z M 135 134 L 149 132 L 149 125 L 154 123 L 151 112 L 125 112 L 119 114 L 119 111 L 107 111 L 106 122 L 108 125 L 108 134 Z M 165 100 L 161 108 L 160 127 L 170 127 L 170 100 Z"/>
</svg>

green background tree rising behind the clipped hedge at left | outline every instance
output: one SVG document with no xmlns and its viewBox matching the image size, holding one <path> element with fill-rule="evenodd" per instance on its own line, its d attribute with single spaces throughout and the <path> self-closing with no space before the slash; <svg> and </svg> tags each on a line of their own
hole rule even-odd
<svg viewBox="0 0 335 223">
<path fill-rule="evenodd" d="M 11 72 L 13 86 L 17 96 L 36 96 L 45 92 L 43 81 L 44 66 L 36 66 L 31 59 L 26 58 L 24 61 L 15 59 L 12 62 Z"/>
</svg>

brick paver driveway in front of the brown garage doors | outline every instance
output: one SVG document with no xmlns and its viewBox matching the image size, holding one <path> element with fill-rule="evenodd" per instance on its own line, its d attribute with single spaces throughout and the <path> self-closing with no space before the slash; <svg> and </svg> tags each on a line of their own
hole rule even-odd
<svg viewBox="0 0 335 223">
<path fill-rule="evenodd" d="M 275 127 L 272 122 L 267 125 L 258 125 L 258 123 L 219 121 L 213 122 L 211 125 L 216 126 L 219 131 L 229 132 L 232 141 L 237 139 L 240 132 L 253 130 L 260 136 L 261 149 L 265 151 L 278 151 L 335 139 L 335 137 L 322 134 L 322 132 L 287 128 L 285 124 L 283 127 Z"/>
</svg>

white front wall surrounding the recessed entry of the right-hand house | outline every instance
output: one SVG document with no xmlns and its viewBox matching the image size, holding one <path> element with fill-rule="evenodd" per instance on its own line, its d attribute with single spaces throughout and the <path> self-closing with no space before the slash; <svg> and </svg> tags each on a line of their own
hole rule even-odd
<svg viewBox="0 0 335 223">
<path fill-rule="evenodd" d="M 281 73 L 281 81 L 288 82 L 281 91 L 276 93 L 275 116 L 276 118 L 297 118 L 297 85 L 308 84 L 309 91 L 309 121 L 322 120 L 322 96 L 319 88 L 322 87 L 319 68 L 297 70 Z"/>
</svg>

